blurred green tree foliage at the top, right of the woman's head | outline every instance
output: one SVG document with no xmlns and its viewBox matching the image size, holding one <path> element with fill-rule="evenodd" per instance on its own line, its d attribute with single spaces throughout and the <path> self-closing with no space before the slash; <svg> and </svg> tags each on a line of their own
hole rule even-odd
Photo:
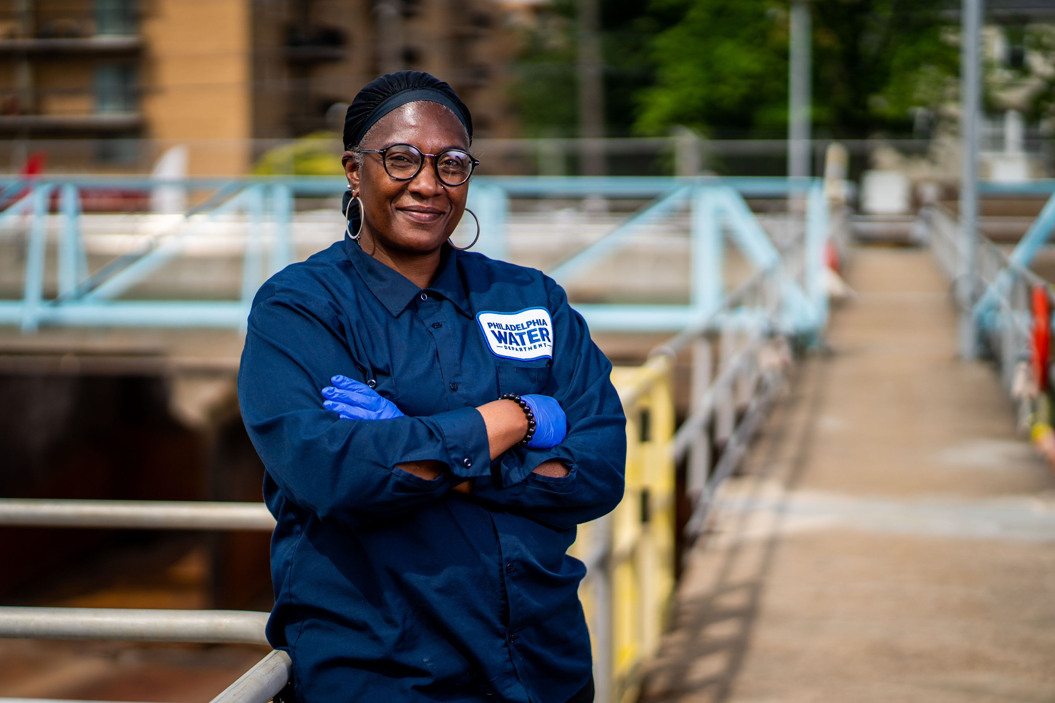
<svg viewBox="0 0 1055 703">
<path fill-rule="evenodd" d="M 786 0 L 600 0 L 610 136 L 783 137 Z M 944 0 L 813 0 L 813 122 L 838 137 L 904 134 L 955 98 Z M 524 30 L 514 98 L 525 136 L 574 135 L 574 0 Z M 919 128 L 919 120 L 915 120 Z"/>
</svg>

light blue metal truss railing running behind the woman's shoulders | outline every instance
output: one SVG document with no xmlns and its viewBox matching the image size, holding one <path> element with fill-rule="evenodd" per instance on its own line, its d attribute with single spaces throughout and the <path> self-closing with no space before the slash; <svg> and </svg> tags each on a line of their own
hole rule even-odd
<svg viewBox="0 0 1055 703">
<path fill-rule="evenodd" d="M 0 180 L 0 228 L 28 218 L 26 256 L 20 299 L 0 300 L 0 325 L 19 325 L 32 333 L 47 326 L 220 327 L 245 326 L 252 297 L 271 274 L 295 259 L 291 236 L 295 198 L 339 196 L 342 178 L 247 178 L 151 181 L 140 178 L 73 177 L 33 181 Z M 208 196 L 187 213 L 169 217 L 169 229 L 137 251 L 122 254 L 89 271 L 82 200 L 96 191 L 148 195 L 153 189 L 186 189 Z M 57 197 L 56 197 L 57 194 Z M 17 197 L 16 197 L 17 196 Z M 780 318 L 789 331 L 821 329 L 827 316 L 821 267 L 828 238 L 828 206 L 820 180 L 709 177 L 478 177 L 469 188 L 468 204 L 480 222 L 475 247 L 493 258 L 505 258 L 511 198 L 651 199 L 599 240 L 565 258 L 549 273 L 567 284 L 611 255 L 642 228 L 672 214 L 691 210 L 691 295 L 688 305 L 579 305 L 595 330 L 678 331 L 708 317 L 724 295 L 724 239 L 736 243 L 756 271 L 780 278 Z M 802 270 L 788 269 L 745 197 L 794 198 L 804 206 L 805 237 Z M 54 201 L 54 202 L 53 202 Z M 54 214 L 53 214 L 53 211 Z M 131 291 L 179 257 L 188 242 L 211 224 L 235 221 L 244 232 L 239 296 L 236 300 L 135 299 Z M 45 298 L 49 232 L 57 231 L 56 280 Z"/>
</svg>

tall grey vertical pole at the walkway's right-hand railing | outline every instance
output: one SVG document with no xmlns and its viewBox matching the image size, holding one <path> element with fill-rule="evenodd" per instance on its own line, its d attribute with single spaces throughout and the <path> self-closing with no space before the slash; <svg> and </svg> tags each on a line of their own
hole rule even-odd
<svg viewBox="0 0 1055 703">
<path fill-rule="evenodd" d="M 981 94 L 981 18 L 983 0 L 963 0 L 960 41 L 960 356 L 977 355 L 977 330 L 972 314 L 975 296 L 975 252 L 978 239 L 978 113 Z"/>
</svg>

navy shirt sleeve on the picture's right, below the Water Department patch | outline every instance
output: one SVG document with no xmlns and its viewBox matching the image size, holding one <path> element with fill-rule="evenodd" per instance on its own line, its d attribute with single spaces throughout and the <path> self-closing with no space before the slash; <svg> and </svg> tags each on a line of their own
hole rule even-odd
<svg viewBox="0 0 1055 703">
<path fill-rule="evenodd" d="M 567 528 L 610 512 L 622 500 L 627 462 L 627 418 L 612 386 L 612 364 L 590 338 L 586 320 L 552 285 L 553 364 L 549 394 L 568 416 L 568 435 L 544 450 L 513 449 L 477 479 L 473 495 L 485 505 L 523 512 Z M 533 473 L 540 464 L 561 460 L 564 477 Z"/>
</svg>

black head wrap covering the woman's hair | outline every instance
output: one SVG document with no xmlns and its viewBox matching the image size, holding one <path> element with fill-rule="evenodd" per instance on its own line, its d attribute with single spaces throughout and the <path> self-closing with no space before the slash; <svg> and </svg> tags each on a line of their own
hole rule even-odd
<svg viewBox="0 0 1055 703">
<path fill-rule="evenodd" d="M 473 141 L 473 117 L 454 89 L 446 82 L 421 71 L 398 71 L 367 83 L 348 105 L 344 117 L 344 148 L 354 149 L 379 119 L 408 102 L 428 100 L 449 109 L 465 125 L 469 143 Z M 351 192 L 345 191 L 342 211 L 348 218 L 348 231 L 358 232 L 361 221 L 359 208 L 349 208 Z"/>
</svg>

